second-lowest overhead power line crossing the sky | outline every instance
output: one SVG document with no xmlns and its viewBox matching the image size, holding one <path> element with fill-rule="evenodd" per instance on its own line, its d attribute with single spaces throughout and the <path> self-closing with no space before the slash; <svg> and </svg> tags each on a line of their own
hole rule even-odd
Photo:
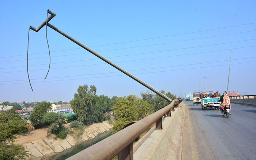
<svg viewBox="0 0 256 160">
<path fill-rule="evenodd" d="M 247 58 L 240 58 L 240 59 L 232 59 L 233 60 L 242 60 L 242 59 L 252 59 L 256 57 L 247 57 Z M 172 66 L 165 66 L 165 67 L 155 67 L 155 68 L 144 68 L 144 69 L 133 69 L 133 70 L 128 70 L 128 72 L 131 71 L 142 71 L 142 70 L 149 70 L 149 69 L 159 69 L 159 68 L 170 68 L 170 67 L 181 67 L 181 66 L 187 66 L 187 65 L 196 65 L 196 64 L 206 64 L 206 63 L 216 63 L 216 62 L 224 62 L 224 61 L 230 61 L 230 60 L 221 60 L 221 61 L 211 61 L 211 62 L 202 62 L 202 63 L 193 63 L 193 64 L 182 64 L 182 65 L 172 65 Z M 91 73 L 91 74 L 86 74 L 86 75 L 72 75 L 72 76 L 61 76 L 61 77 L 49 77 L 48 79 L 54 79 L 54 78 L 64 78 L 64 77 L 76 77 L 76 76 L 90 76 L 90 75 L 100 75 L 100 74 L 109 74 L 109 73 L 118 73 L 119 71 L 115 72 L 105 72 L 105 73 Z M 39 79 L 31 79 L 31 80 L 40 80 Z M 27 79 L 24 80 L 12 80 L 12 81 L 26 81 Z M 0 81 L 1 82 L 12 82 L 12 81 Z"/>
</svg>

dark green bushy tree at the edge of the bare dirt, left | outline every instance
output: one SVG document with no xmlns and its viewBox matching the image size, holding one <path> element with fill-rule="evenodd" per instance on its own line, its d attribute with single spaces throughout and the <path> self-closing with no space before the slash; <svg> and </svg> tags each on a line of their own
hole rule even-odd
<svg viewBox="0 0 256 160">
<path fill-rule="evenodd" d="M 42 102 L 37 107 L 34 108 L 33 112 L 29 116 L 29 119 L 31 121 L 31 124 L 38 128 L 41 125 L 44 124 L 44 121 L 42 121 L 42 118 L 44 114 L 48 111 L 48 109 L 52 109 L 52 105 L 48 102 Z"/>
</svg>

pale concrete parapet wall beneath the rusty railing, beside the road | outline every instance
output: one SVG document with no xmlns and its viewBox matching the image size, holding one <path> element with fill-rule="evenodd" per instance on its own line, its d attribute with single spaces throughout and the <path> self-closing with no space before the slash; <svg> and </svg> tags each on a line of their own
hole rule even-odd
<svg viewBox="0 0 256 160">
<path fill-rule="evenodd" d="M 172 117 L 163 121 L 163 129 L 154 130 L 133 153 L 135 160 L 177 160 L 181 159 L 182 126 L 185 105 L 175 108 Z"/>
</svg>

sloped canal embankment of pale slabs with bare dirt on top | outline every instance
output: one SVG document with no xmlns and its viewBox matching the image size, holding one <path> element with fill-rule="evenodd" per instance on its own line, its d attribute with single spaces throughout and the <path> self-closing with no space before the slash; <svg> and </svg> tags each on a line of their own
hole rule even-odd
<svg viewBox="0 0 256 160">
<path fill-rule="evenodd" d="M 84 127 L 80 137 L 68 134 L 66 139 L 56 139 L 55 136 L 47 137 L 48 128 L 37 129 L 18 137 L 17 144 L 23 144 L 25 150 L 31 154 L 28 158 L 29 160 L 43 160 L 81 144 L 84 141 L 94 139 L 96 136 L 110 131 L 112 127 L 113 125 L 108 123 L 108 121 L 95 123 Z"/>
</svg>

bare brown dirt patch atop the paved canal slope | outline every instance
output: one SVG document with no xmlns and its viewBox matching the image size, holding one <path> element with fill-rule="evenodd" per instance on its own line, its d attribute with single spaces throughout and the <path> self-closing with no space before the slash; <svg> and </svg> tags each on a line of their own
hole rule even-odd
<svg viewBox="0 0 256 160">
<path fill-rule="evenodd" d="M 65 127 L 69 128 L 69 124 L 64 124 Z M 17 136 L 16 139 L 16 144 L 26 144 L 29 142 L 33 142 L 35 140 L 39 140 L 39 139 L 43 139 L 47 136 L 47 131 L 48 131 L 49 127 L 47 128 L 42 128 L 42 129 L 35 129 L 34 131 L 30 131 L 27 133 L 24 133 L 20 136 Z M 51 135 L 51 137 L 55 137 L 55 135 Z"/>
</svg>

